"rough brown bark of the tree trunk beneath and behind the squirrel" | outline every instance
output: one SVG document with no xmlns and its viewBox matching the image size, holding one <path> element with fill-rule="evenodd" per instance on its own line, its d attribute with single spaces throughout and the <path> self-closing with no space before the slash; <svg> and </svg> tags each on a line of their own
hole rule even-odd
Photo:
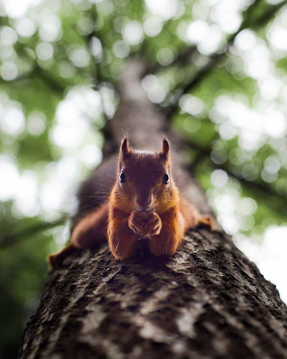
<svg viewBox="0 0 287 359">
<path fill-rule="evenodd" d="M 139 148 L 154 149 L 164 118 L 141 88 L 142 71 L 133 62 L 123 73 L 110 127 L 115 140 L 128 129 Z M 184 169 L 178 139 L 171 142 L 180 187 L 210 213 Z M 139 250 L 120 262 L 102 244 L 94 252 L 74 251 L 50 274 L 19 357 L 287 358 L 286 306 L 219 227 L 190 230 L 166 259 Z"/>
</svg>

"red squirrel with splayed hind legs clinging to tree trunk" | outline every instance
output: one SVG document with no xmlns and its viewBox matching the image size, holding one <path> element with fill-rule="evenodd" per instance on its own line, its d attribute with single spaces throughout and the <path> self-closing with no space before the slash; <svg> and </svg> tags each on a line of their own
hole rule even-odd
<svg viewBox="0 0 287 359">
<path fill-rule="evenodd" d="M 66 248 L 49 256 L 52 268 L 71 247 L 92 248 L 106 239 L 118 260 L 131 257 L 140 238 L 154 256 L 172 256 L 188 228 L 213 228 L 212 217 L 200 215 L 179 193 L 165 137 L 160 151 L 135 150 L 125 137 L 116 174 L 108 200 L 76 223 Z"/>
</svg>

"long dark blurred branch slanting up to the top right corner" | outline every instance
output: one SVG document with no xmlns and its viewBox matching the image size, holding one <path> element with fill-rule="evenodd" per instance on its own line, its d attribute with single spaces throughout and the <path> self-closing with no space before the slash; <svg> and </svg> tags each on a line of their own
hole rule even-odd
<svg viewBox="0 0 287 359">
<path fill-rule="evenodd" d="M 266 10 L 262 15 L 260 15 L 257 19 L 255 19 L 253 22 L 250 22 L 250 13 L 253 13 L 254 9 L 257 8 L 258 4 L 262 0 L 256 0 L 252 5 L 249 6 L 249 8 L 245 11 L 246 17 L 241 23 L 241 26 L 239 29 L 232 34 L 224 47 L 222 47 L 217 53 L 214 53 L 211 55 L 208 59 L 208 62 L 205 66 L 203 66 L 196 75 L 193 76 L 193 78 L 184 85 L 184 87 L 176 92 L 174 102 L 170 105 L 169 110 L 167 112 L 168 118 L 172 117 L 174 113 L 177 111 L 178 105 L 179 105 L 179 99 L 180 97 L 187 92 L 190 92 L 193 90 L 204 78 L 206 78 L 207 75 L 211 73 L 211 71 L 214 69 L 215 65 L 222 60 L 229 50 L 229 47 L 233 44 L 235 37 L 245 28 L 254 28 L 254 27 L 262 27 L 266 25 L 269 20 L 271 20 L 274 15 L 279 11 L 286 3 L 287 0 L 282 1 L 282 3 L 268 6 L 268 10 Z"/>
</svg>

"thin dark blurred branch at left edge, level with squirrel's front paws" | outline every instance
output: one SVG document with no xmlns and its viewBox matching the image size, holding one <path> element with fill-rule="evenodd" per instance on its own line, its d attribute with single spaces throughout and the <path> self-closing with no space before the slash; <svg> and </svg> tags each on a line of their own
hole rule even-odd
<svg viewBox="0 0 287 359">
<path fill-rule="evenodd" d="M 8 236 L 4 236 L 3 239 L 0 240 L 0 249 L 11 247 L 18 242 L 23 241 L 23 239 L 29 238 L 30 236 L 34 236 L 35 234 L 37 234 L 38 232 L 42 232 L 43 230 L 63 225 L 65 224 L 65 221 L 66 218 L 62 217 L 54 222 L 41 222 L 26 227 Z"/>
</svg>

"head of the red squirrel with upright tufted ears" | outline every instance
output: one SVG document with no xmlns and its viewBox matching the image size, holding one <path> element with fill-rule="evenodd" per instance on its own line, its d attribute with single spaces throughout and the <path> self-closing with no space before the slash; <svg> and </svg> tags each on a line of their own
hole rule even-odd
<svg viewBox="0 0 287 359">
<path fill-rule="evenodd" d="M 118 176 L 113 204 L 124 212 L 171 208 L 178 200 L 178 189 L 171 176 L 170 144 L 163 138 L 159 151 L 135 150 L 125 137 L 119 151 Z"/>
</svg>

